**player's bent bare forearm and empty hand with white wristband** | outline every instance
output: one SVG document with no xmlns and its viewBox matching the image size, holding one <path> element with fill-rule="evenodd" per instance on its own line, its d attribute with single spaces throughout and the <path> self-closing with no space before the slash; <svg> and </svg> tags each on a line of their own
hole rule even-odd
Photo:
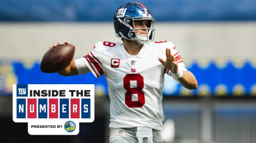
<svg viewBox="0 0 256 143">
<path fill-rule="evenodd" d="M 172 76 L 174 76 L 174 78 L 176 78 L 184 87 L 188 89 L 197 88 L 197 81 L 193 73 L 190 71 L 179 71 L 179 65 L 174 56 L 171 55 L 170 48 L 166 48 L 166 61 L 163 61 L 161 58 L 158 58 L 158 60 L 165 68 L 171 71 Z"/>
</svg>

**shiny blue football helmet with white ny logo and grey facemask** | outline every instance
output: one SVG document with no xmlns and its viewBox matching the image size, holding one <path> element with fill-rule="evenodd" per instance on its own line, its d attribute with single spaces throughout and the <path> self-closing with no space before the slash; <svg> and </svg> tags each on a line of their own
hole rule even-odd
<svg viewBox="0 0 256 143">
<path fill-rule="evenodd" d="M 134 28 L 134 21 L 138 20 L 147 20 L 147 28 Z M 134 40 L 140 44 L 144 44 L 148 41 L 154 41 L 154 22 L 155 19 L 151 16 L 149 10 L 143 4 L 138 2 L 129 2 L 127 4 L 121 5 L 121 7 L 116 10 L 114 15 L 114 28 L 116 36 L 118 38 Z M 138 35 L 135 32 L 135 30 L 138 29 L 146 29 L 147 35 Z"/>
</svg>

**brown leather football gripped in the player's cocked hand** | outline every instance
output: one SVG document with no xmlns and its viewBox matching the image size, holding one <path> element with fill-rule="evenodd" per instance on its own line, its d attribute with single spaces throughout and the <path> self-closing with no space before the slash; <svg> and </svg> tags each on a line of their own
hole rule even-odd
<svg viewBox="0 0 256 143">
<path fill-rule="evenodd" d="M 55 73 L 62 70 L 72 61 L 75 47 L 71 44 L 62 44 L 48 50 L 41 60 L 40 69 L 44 73 Z"/>
</svg>

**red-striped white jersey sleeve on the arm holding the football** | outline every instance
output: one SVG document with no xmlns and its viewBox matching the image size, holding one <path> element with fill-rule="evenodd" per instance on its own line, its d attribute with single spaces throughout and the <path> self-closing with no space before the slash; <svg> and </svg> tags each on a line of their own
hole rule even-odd
<svg viewBox="0 0 256 143">
<path fill-rule="evenodd" d="M 98 44 L 94 45 L 93 50 L 84 56 L 85 64 L 96 78 L 99 78 L 104 74 L 101 64 L 101 47 L 99 45 L 98 42 Z"/>
</svg>

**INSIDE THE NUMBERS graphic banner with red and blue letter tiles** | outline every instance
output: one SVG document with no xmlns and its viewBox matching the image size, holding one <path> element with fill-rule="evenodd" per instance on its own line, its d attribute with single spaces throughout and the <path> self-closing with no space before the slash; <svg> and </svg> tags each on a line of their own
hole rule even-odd
<svg viewBox="0 0 256 143">
<path fill-rule="evenodd" d="M 13 121 L 29 135 L 77 135 L 94 121 L 93 84 L 13 84 Z"/>
</svg>

